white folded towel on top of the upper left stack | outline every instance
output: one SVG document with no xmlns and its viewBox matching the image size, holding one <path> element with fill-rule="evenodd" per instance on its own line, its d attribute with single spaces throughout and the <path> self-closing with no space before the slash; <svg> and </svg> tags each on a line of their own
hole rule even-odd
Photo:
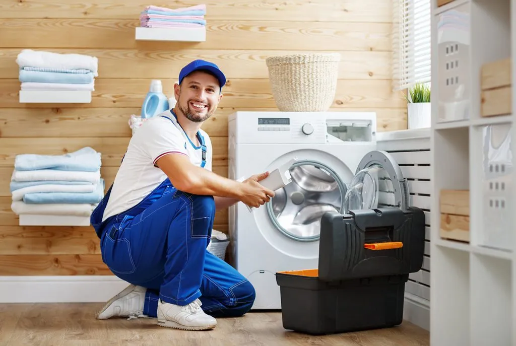
<svg viewBox="0 0 516 346">
<path fill-rule="evenodd" d="M 99 59 L 97 57 L 84 54 L 61 54 L 45 51 L 22 50 L 16 59 L 20 68 L 42 67 L 52 69 L 86 69 L 99 75 Z"/>
</svg>

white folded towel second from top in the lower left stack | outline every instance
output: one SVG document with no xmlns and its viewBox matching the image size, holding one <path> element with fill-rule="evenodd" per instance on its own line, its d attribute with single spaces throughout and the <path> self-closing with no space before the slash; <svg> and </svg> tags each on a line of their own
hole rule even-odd
<svg viewBox="0 0 516 346">
<path fill-rule="evenodd" d="M 59 171 L 59 170 L 34 170 L 34 171 L 17 171 L 14 170 L 11 176 L 12 181 L 31 182 L 34 180 L 66 180 L 68 182 L 90 182 L 92 184 L 100 183 L 100 171 Z"/>
</svg>

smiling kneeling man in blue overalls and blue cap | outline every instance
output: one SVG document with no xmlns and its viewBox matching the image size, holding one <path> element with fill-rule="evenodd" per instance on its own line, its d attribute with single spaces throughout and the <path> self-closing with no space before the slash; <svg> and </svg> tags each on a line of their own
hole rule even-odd
<svg viewBox="0 0 516 346">
<path fill-rule="evenodd" d="M 241 201 L 259 207 L 274 192 L 212 169 L 212 144 L 201 125 L 217 109 L 225 76 L 195 60 L 174 85 L 174 109 L 135 132 L 114 184 L 92 213 L 102 259 L 129 287 L 98 312 L 110 317 L 157 317 L 187 330 L 214 328 L 215 317 L 244 315 L 255 292 L 228 263 L 206 251 L 215 209 Z M 201 308 L 202 305 L 202 308 Z"/>
</svg>

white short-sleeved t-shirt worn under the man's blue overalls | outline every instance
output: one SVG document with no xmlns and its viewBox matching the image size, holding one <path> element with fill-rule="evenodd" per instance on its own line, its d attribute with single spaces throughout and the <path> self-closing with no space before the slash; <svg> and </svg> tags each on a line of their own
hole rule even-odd
<svg viewBox="0 0 516 346">
<path fill-rule="evenodd" d="M 200 129 L 199 132 L 206 145 L 204 168 L 211 171 L 212 142 L 205 131 Z M 168 154 L 186 155 L 190 162 L 201 166 L 202 150 L 196 144 L 188 138 L 170 111 L 146 120 L 135 131 L 127 146 L 102 220 L 135 206 L 167 179 L 167 175 L 155 166 L 160 157 Z"/>
</svg>

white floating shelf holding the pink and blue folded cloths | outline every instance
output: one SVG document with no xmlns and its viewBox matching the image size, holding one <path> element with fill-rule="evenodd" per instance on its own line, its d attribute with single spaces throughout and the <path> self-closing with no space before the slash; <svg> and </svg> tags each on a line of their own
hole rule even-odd
<svg viewBox="0 0 516 346">
<path fill-rule="evenodd" d="M 206 41 L 206 27 L 136 28 L 136 40 L 140 41 Z"/>
</svg>

